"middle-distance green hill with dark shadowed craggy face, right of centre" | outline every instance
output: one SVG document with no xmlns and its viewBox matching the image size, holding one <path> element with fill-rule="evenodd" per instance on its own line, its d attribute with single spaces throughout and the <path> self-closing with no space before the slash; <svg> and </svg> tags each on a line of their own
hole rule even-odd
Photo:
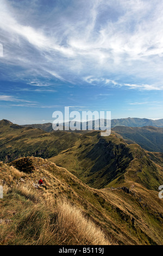
<svg viewBox="0 0 163 256">
<path fill-rule="evenodd" d="M 116 134 L 101 137 L 99 132 L 86 133 L 80 139 L 74 147 L 49 160 L 95 188 L 139 182 L 158 190 L 163 184 L 161 165 L 155 164 L 139 145 L 128 145 Z"/>
</svg>

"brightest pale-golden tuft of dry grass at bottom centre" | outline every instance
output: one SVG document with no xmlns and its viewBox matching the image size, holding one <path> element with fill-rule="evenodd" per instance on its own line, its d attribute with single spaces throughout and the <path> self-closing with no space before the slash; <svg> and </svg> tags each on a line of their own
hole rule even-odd
<svg viewBox="0 0 163 256">
<path fill-rule="evenodd" d="M 60 200 L 57 210 L 59 231 L 62 234 L 61 244 L 66 241 L 73 245 L 111 245 L 103 231 L 67 200 Z"/>
</svg>

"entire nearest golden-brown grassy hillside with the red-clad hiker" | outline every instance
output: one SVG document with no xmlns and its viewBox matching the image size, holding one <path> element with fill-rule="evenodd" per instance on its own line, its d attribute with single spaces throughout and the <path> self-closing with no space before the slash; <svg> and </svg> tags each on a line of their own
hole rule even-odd
<svg viewBox="0 0 163 256">
<path fill-rule="evenodd" d="M 36 188 L 40 178 L 43 186 Z M 129 193 L 124 188 L 97 190 L 65 168 L 37 157 L 1 163 L 0 179 L 3 245 L 163 242 L 162 200 L 158 192 L 136 182 Z"/>
</svg>

